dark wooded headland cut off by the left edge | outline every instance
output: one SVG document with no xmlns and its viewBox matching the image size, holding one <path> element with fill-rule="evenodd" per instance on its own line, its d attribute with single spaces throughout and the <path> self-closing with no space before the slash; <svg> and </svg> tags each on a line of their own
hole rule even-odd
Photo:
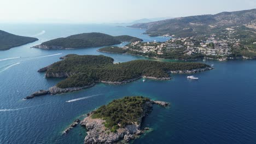
<svg viewBox="0 0 256 144">
<path fill-rule="evenodd" d="M 0 50 L 8 50 L 12 47 L 25 45 L 37 40 L 37 38 L 22 37 L 0 30 Z"/>
</svg>

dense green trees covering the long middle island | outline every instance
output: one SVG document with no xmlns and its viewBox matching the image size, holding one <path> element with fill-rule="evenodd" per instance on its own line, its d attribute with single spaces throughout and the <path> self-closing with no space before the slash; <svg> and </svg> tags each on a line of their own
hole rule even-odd
<svg viewBox="0 0 256 144">
<path fill-rule="evenodd" d="M 106 56 L 68 55 L 63 61 L 56 62 L 46 74 L 68 74 L 69 77 L 57 87 L 83 87 L 99 81 L 122 82 L 141 76 L 156 78 L 169 77 L 170 70 L 191 70 L 209 67 L 203 63 L 157 62 L 136 60 L 113 64 L 114 59 Z"/>
</svg>

